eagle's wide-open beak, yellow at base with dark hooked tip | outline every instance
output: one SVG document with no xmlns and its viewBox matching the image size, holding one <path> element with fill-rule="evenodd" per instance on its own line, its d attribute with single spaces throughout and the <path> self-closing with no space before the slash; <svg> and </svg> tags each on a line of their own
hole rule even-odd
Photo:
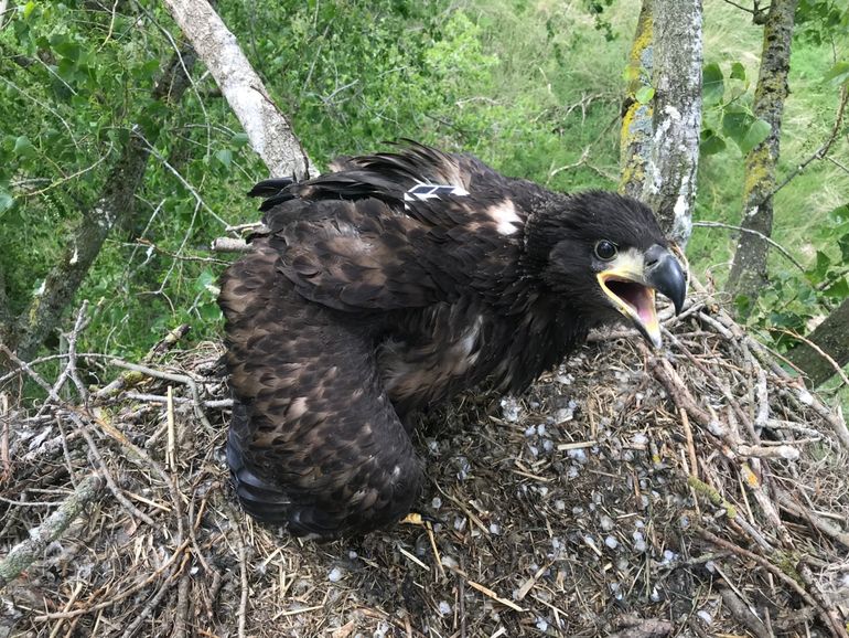
<svg viewBox="0 0 849 638">
<path fill-rule="evenodd" d="M 662 344 L 660 323 L 655 309 L 655 290 L 668 297 L 678 315 L 684 307 L 687 280 L 678 259 L 655 244 L 645 253 L 620 253 L 610 268 L 597 275 L 613 306 L 631 319 L 655 348 Z"/>
</svg>

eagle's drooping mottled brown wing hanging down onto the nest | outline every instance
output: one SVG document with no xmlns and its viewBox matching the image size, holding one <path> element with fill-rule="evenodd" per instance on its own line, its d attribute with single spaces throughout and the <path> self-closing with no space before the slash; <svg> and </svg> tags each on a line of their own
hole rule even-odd
<svg viewBox="0 0 849 638">
<path fill-rule="evenodd" d="M 421 467 L 370 340 L 300 297 L 270 251 L 232 266 L 221 299 L 235 397 L 227 459 L 245 510 L 325 539 L 409 512 Z"/>
</svg>

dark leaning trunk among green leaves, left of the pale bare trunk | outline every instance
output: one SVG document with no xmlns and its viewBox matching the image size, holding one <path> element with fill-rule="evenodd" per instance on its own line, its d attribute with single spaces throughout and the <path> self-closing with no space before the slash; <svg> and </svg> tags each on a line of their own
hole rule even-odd
<svg viewBox="0 0 849 638">
<path fill-rule="evenodd" d="M 153 88 L 153 98 L 176 104 L 189 86 L 183 67 L 191 68 L 193 63 L 194 53 L 191 51 L 183 53 L 182 60 L 180 55 L 174 55 Z M 23 361 L 35 355 L 44 339 L 56 327 L 62 310 L 74 298 L 109 232 L 116 225 L 131 220 L 135 193 L 144 177 L 150 156 L 148 143 L 155 142 L 157 137 L 157 132 L 151 134 L 146 141 L 138 135 L 131 135 L 106 180 L 103 194 L 84 214 L 67 249 L 18 320 L 10 341 Z"/>
</svg>

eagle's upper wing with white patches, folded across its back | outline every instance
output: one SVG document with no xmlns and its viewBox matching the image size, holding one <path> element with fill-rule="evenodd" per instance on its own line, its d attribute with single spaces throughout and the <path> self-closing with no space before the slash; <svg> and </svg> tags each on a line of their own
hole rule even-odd
<svg viewBox="0 0 849 638">
<path fill-rule="evenodd" d="M 305 299 L 337 310 L 454 302 L 470 288 L 514 280 L 520 226 L 534 187 L 468 156 L 415 146 L 341 161 L 270 194 L 265 235 Z M 264 187 L 264 184 L 266 184 Z M 264 208 L 267 208 L 264 205 Z"/>
</svg>

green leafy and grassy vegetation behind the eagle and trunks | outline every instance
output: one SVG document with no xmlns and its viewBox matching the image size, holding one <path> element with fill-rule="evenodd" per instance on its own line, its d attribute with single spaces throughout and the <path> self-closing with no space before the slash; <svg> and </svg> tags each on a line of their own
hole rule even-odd
<svg viewBox="0 0 849 638">
<path fill-rule="evenodd" d="M 151 98 L 182 42 L 159 3 L 121 2 L 114 14 L 92 4 L 21 4 L 0 31 L 0 269 L 10 309 L 25 311 L 130 131 L 160 130 L 136 214 L 110 235 L 78 295 L 93 302 L 78 348 L 136 359 L 182 322 L 195 340 L 217 339 L 223 265 L 191 258 L 209 257 L 227 223 L 257 219 L 244 193 L 265 168 L 200 65 L 179 108 Z M 836 7 L 802 2 L 780 181 L 835 121 L 839 86 L 824 77 L 849 55 L 846 9 Z M 320 166 L 407 137 L 556 190 L 616 188 L 638 2 L 245 1 L 218 11 Z M 719 95 L 707 96 L 706 128 L 722 130 L 723 104 L 751 104 L 761 39 L 750 15 L 706 0 L 705 62 L 723 77 Z M 740 149 L 707 150 L 717 152 L 701 158 L 696 217 L 738 224 Z M 838 163 L 813 162 L 775 198 L 774 238 L 807 273 L 773 252 L 772 288 L 750 313 L 766 339 L 780 337 L 769 327 L 806 332 L 849 295 L 846 130 L 830 155 Z M 688 256 L 697 276 L 721 284 L 734 242 L 696 228 Z"/>
</svg>

